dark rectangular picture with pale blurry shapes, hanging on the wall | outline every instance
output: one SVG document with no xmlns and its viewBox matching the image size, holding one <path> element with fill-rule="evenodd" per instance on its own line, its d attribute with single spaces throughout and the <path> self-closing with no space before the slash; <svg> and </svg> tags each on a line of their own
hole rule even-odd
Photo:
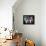
<svg viewBox="0 0 46 46">
<path fill-rule="evenodd" d="M 34 24 L 35 17 L 34 15 L 24 15 L 23 16 L 23 24 Z"/>
</svg>

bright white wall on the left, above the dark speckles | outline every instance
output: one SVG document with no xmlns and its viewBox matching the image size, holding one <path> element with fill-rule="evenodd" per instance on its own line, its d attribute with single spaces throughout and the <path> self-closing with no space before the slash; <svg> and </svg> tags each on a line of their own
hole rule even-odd
<svg viewBox="0 0 46 46">
<path fill-rule="evenodd" d="M 16 0 L 0 0 L 0 27 L 12 28 L 12 6 Z"/>
</svg>

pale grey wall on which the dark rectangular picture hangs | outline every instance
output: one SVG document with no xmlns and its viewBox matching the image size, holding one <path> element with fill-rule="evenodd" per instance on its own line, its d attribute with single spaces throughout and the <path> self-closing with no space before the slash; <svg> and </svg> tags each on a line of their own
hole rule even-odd
<svg viewBox="0 0 46 46">
<path fill-rule="evenodd" d="M 20 0 L 21 1 L 21 0 Z M 13 6 L 15 30 L 23 33 L 23 37 L 35 41 L 36 46 L 41 46 L 41 1 L 23 0 Z M 23 15 L 35 15 L 34 25 L 24 25 Z"/>
</svg>

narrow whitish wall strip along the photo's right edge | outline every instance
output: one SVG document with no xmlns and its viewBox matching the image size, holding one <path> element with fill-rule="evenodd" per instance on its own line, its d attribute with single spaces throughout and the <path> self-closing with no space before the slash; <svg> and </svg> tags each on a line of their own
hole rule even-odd
<svg viewBox="0 0 46 46">
<path fill-rule="evenodd" d="M 46 0 L 41 2 L 41 39 L 42 46 L 46 46 Z"/>
</svg>

